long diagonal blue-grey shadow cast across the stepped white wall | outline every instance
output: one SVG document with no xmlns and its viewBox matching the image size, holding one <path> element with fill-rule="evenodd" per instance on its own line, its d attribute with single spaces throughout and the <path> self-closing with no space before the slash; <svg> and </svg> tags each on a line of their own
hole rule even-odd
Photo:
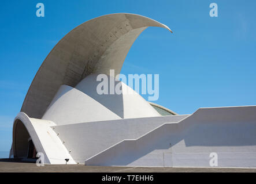
<svg viewBox="0 0 256 184">
<path fill-rule="evenodd" d="M 255 112 L 255 107 L 253 108 Z M 216 110 L 199 109 L 192 116 L 179 123 L 167 123 L 147 133 L 137 140 L 124 140 L 114 145 L 101 154 L 86 160 L 88 165 L 127 166 L 155 150 L 158 153 L 172 152 L 170 147 L 177 147 L 179 151 L 188 151 L 187 147 L 200 146 L 202 152 L 210 151 L 211 147 L 218 146 L 219 151 L 232 152 L 232 146 L 256 145 L 255 113 L 248 114 L 250 118 L 244 118 L 245 122 L 236 122 L 236 117 L 217 117 Z M 223 110 L 225 113 L 225 109 Z M 205 121 L 205 114 L 212 114 L 210 122 Z M 234 113 L 234 112 L 232 112 Z M 244 112 L 247 114 L 248 112 Z M 238 116 L 241 114 L 238 114 Z M 251 121 L 254 120 L 254 121 Z M 185 144 L 180 144 L 184 140 Z M 224 148 L 225 147 L 225 148 Z M 200 148 L 200 149 L 201 149 Z M 176 151 L 177 151 L 176 150 Z M 236 149 L 237 150 L 237 149 Z M 191 152 L 197 151 L 189 150 Z M 199 150 L 200 151 L 200 150 Z"/>
</svg>

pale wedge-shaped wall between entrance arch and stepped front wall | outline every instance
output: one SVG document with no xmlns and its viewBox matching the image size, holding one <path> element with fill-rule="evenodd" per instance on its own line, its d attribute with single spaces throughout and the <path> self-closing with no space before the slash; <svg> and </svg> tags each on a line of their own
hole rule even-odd
<svg viewBox="0 0 256 184">
<path fill-rule="evenodd" d="M 187 117 L 165 116 L 112 121 L 86 122 L 55 126 L 54 131 L 65 141 L 73 159 L 80 163 L 124 139 L 137 139 L 165 122 L 177 122 Z"/>
</svg>

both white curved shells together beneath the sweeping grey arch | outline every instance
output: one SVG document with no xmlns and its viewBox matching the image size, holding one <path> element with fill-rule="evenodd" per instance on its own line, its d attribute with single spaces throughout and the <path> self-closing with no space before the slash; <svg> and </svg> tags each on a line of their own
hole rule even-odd
<svg viewBox="0 0 256 184">
<path fill-rule="evenodd" d="M 112 76 L 106 76 L 105 88 L 110 90 L 110 81 L 114 86 L 121 85 L 121 94 L 98 94 L 98 74 L 91 74 L 73 88 L 62 85 L 42 119 L 53 121 L 57 125 L 77 124 L 118 120 L 121 118 L 156 117 L 161 115 L 149 102 L 123 82 Z M 90 87 L 89 87 L 90 86 Z"/>
</svg>

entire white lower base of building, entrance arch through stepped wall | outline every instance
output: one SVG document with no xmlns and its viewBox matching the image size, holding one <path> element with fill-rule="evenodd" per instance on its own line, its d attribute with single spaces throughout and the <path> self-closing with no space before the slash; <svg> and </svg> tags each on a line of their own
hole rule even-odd
<svg viewBox="0 0 256 184">
<path fill-rule="evenodd" d="M 19 113 L 17 120 L 27 126 L 46 163 L 65 164 L 69 158 L 86 160 L 87 166 L 209 167 L 210 154 L 217 153 L 218 167 L 251 168 L 256 167 L 255 112 L 256 106 L 201 108 L 187 117 L 69 125 L 47 125 Z"/>
</svg>

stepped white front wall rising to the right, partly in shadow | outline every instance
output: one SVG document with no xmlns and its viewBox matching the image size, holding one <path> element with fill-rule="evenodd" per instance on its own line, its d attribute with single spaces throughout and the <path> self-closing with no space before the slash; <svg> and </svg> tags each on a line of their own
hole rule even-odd
<svg viewBox="0 0 256 184">
<path fill-rule="evenodd" d="M 88 159 L 88 165 L 256 167 L 256 106 L 202 108 L 139 139 L 124 140 Z"/>
</svg>

